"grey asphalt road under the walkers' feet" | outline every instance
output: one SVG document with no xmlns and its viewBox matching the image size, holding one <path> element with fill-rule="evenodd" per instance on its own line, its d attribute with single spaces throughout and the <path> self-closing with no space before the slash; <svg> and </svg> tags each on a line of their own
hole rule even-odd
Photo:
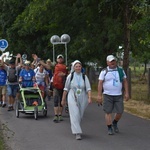
<svg viewBox="0 0 150 150">
<path fill-rule="evenodd" d="M 102 107 L 90 104 L 82 121 L 83 139 L 77 141 L 70 129 L 68 114 L 64 121 L 53 122 L 53 103 L 48 102 L 48 116 L 8 112 L 0 108 L 0 121 L 5 130 L 9 150 L 149 150 L 150 120 L 124 113 L 119 122 L 120 133 L 107 135 Z"/>
</svg>

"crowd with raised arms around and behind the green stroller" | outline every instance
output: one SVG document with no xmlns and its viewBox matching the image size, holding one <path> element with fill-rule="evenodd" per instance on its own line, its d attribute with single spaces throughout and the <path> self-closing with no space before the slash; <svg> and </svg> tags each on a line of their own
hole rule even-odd
<svg viewBox="0 0 150 150">
<path fill-rule="evenodd" d="M 20 96 L 19 84 L 22 87 L 33 87 L 36 83 L 43 98 L 47 96 L 50 99 L 46 95 L 46 89 L 50 86 L 53 76 L 50 59 L 44 62 L 36 54 L 32 54 L 33 61 L 29 61 L 23 60 L 21 54 L 17 54 L 15 59 L 5 62 L 5 57 L 2 55 L 0 60 L 0 106 L 6 107 L 7 94 L 8 111 L 14 110 L 15 100 Z"/>
</svg>

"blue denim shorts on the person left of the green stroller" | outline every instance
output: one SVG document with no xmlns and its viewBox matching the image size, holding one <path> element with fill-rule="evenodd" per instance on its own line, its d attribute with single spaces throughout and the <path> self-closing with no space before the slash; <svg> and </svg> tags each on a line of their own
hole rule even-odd
<svg viewBox="0 0 150 150">
<path fill-rule="evenodd" d="M 17 92 L 19 91 L 19 85 L 7 85 L 7 94 L 8 96 L 16 97 Z"/>
</svg>

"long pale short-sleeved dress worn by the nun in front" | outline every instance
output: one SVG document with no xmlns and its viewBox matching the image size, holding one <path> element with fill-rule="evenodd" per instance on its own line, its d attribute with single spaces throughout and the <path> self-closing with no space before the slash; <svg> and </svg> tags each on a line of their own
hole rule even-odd
<svg viewBox="0 0 150 150">
<path fill-rule="evenodd" d="M 71 130 L 73 134 L 81 134 L 81 119 L 88 105 L 87 92 L 91 91 L 91 86 L 86 75 L 84 81 L 82 73 L 77 74 L 74 72 L 72 81 L 70 81 L 70 79 L 71 74 L 67 77 L 64 90 L 68 91 L 68 108 L 70 114 Z"/>
</svg>

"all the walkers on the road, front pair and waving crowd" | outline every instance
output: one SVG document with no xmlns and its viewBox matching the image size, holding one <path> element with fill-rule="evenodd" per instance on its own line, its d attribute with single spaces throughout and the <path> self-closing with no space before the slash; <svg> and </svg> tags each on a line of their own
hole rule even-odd
<svg viewBox="0 0 150 150">
<path fill-rule="evenodd" d="M 68 71 L 61 54 L 57 56 L 57 63 L 53 69 L 50 59 L 44 62 L 36 54 L 32 54 L 32 62 L 26 60 L 24 63 L 20 54 L 16 56 L 15 62 L 9 61 L 9 64 L 3 61 L 3 57 L 0 62 L 1 106 L 6 106 L 7 91 L 8 111 L 14 109 L 15 99 L 19 99 L 19 82 L 23 87 L 34 86 L 36 82 L 44 98 L 47 96 L 46 88 L 51 85 L 54 101 L 53 121 L 55 123 L 63 121 L 63 108 L 67 106 L 72 134 L 77 140 L 81 140 L 81 121 L 86 107 L 92 103 L 91 85 L 87 75 L 83 73 L 82 63 L 75 60 L 71 70 Z M 103 106 L 108 135 L 113 135 L 114 132 L 119 132 L 118 121 L 124 110 L 123 100 L 129 99 L 129 92 L 127 76 L 124 70 L 117 66 L 116 58 L 109 55 L 106 62 L 107 68 L 100 72 L 98 78 L 97 103 Z M 11 68 L 15 68 L 15 72 L 10 72 Z M 19 74 L 18 80 L 12 80 L 12 74 L 16 76 Z M 114 118 L 112 113 L 115 114 Z"/>
</svg>

